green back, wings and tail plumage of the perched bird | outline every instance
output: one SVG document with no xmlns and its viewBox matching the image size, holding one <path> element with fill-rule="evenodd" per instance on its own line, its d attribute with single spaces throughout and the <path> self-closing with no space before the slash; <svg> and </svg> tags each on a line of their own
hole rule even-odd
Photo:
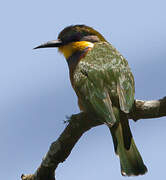
<svg viewBox="0 0 166 180">
<path fill-rule="evenodd" d="M 134 79 L 127 61 L 109 43 L 95 43 L 77 64 L 73 85 L 84 111 L 97 114 L 110 128 L 122 175 L 144 174 L 147 169 L 126 116 L 134 103 Z"/>
</svg>

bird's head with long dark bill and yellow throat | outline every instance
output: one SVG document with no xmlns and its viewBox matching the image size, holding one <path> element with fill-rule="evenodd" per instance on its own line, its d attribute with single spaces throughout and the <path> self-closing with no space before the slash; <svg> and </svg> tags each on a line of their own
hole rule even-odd
<svg viewBox="0 0 166 180">
<path fill-rule="evenodd" d="M 100 41 L 106 40 L 93 28 L 86 25 L 74 25 L 63 29 L 57 40 L 49 41 L 34 49 L 58 47 L 59 51 L 68 59 L 75 52 L 93 48 L 94 43 Z"/>
</svg>

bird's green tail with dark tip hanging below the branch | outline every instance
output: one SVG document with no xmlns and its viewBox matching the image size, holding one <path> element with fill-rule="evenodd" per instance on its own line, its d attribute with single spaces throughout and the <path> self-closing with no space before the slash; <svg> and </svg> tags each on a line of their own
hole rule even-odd
<svg viewBox="0 0 166 180">
<path fill-rule="evenodd" d="M 116 154 L 120 158 L 123 176 L 138 176 L 147 172 L 147 168 L 134 143 L 127 117 L 109 128 L 112 134 Z"/>
</svg>

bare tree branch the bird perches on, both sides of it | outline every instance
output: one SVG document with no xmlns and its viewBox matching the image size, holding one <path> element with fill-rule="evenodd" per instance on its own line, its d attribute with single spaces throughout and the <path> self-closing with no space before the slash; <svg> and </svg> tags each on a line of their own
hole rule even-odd
<svg viewBox="0 0 166 180">
<path fill-rule="evenodd" d="M 135 100 L 131 113 L 128 114 L 129 119 L 134 121 L 162 116 L 166 116 L 166 97 L 152 101 Z M 22 180 L 55 180 L 58 164 L 66 160 L 82 134 L 101 124 L 100 120 L 92 114 L 81 112 L 72 115 L 69 124 L 60 137 L 51 144 L 36 172 L 22 175 Z"/>
</svg>

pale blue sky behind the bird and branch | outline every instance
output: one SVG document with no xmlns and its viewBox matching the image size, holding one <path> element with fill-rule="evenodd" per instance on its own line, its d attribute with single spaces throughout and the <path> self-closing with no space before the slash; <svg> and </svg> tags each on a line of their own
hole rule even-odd
<svg viewBox="0 0 166 180">
<path fill-rule="evenodd" d="M 56 39 L 71 24 L 96 28 L 125 56 L 136 81 L 136 98 L 166 96 L 166 1 L 2 1 L 0 3 L 0 179 L 33 173 L 52 141 L 79 112 L 67 64 L 56 49 L 32 50 Z M 149 169 L 165 178 L 166 117 L 131 121 L 135 142 Z M 57 180 L 129 179 L 105 126 L 87 132 L 59 165 Z"/>
</svg>

